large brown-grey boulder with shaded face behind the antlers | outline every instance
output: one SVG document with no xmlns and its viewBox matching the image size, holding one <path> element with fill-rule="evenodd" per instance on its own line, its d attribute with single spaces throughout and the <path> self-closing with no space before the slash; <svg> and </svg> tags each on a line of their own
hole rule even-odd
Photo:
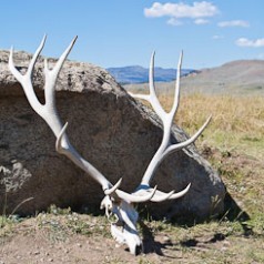
<svg viewBox="0 0 264 264">
<path fill-rule="evenodd" d="M 55 152 L 55 138 L 29 105 L 8 69 L 8 51 L 0 51 L 0 212 L 34 214 L 50 204 L 73 210 L 99 207 L 101 186 Z M 30 59 L 26 52 L 14 53 L 21 72 Z M 33 83 L 43 102 L 42 62 L 37 63 Z M 162 139 L 158 116 L 133 100 L 105 70 L 89 63 L 67 61 L 55 95 L 77 150 L 112 183 L 123 177 L 121 189 L 134 191 Z M 179 142 L 187 135 L 174 125 L 172 138 Z M 194 144 L 163 161 L 152 185 L 167 192 L 180 191 L 190 182 L 184 197 L 159 205 L 148 203 L 150 212 L 202 220 L 223 211 L 225 186 Z"/>
</svg>

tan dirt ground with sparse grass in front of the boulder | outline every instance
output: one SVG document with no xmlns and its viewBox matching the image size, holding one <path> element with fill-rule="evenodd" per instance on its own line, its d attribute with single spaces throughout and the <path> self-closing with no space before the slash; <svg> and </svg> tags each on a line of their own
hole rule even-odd
<svg viewBox="0 0 264 264">
<path fill-rule="evenodd" d="M 69 219 L 78 221 L 69 222 Z M 87 222 L 90 227 L 83 225 Z M 146 222 L 148 225 L 150 222 Z M 144 250 L 131 255 L 116 244 L 102 217 L 42 214 L 7 224 L 0 236 L 0 264 L 35 263 L 263 263 L 264 237 L 236 224 L 175 227 L 152 223 L 142 232 Z M 80 233 L 79 233 L 80 232 Z"/>
</svg>

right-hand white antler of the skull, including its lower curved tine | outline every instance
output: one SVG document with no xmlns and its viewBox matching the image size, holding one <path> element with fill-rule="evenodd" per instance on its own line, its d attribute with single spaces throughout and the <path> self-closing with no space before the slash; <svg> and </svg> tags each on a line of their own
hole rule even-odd
<svg viewBox="0 0 264 264">
<path fill-rule="evenodd" d="M 152 53 L 151 62 L 150 62 L 150 73 L 149 73 L 149 82 L 150 82 L 150 93 L 149 94 L 134 94 L 130 93 L 133 98 L 143 99 L 151 103 L 153 110 L 156 112 L 156 114 L 160 116 L 162 124 L 163 124 L 163 139 L 161 142 L 160 148 L 158 149 L 156 153 L 152 158 L 143 177 L 141 181 L 141 184 L 135 190 L 134 194 L 136 195 L 144 195 L 145 193 L 149 193 L 152 191 L 152 187 L 150 187 L 150 182 L 154 176 L 155 170 L 158 169 L 159 164 L 164 160 L 165 156 L 167 156 L 170 153 L 173 153 L 175 151 L 179 151 L 181 149 L 186 148 L 191 143 L 193 143 L 199 135 L 203 132 L 203 130 L 209 124 L 211 116 L 205 121 L 205 123 L 201 126 L 201 129 L 189 140 L 172 144 L 170 141 L 171 138 L 171 128 L 173 124 L 173 120 L 179 106 L 179 99 L 180 99 L 180 77 L 181 77 L 181 67 L 182 67 L 182 57 L 183 52 L 180 55 L 179 64 L 177 64 L 177 73 L 176 73 L 176 83 L 175 83 L 175 94 L 174 94 L 174 102 L 172 105 L 172 109 L 170 112 L 165 112 L 165 110 L 161 106 L 161 103 L 156 97 L 155 92 L 155 85 L 154 85 L 154 55 L 155 53 Z M 181 192 L 174 193 L 174 191 L 170 193 L 163 193 L 161 191 L 156 191 L 153 197 L 151 199 L 152 202 L 162 202 L 165 200 L 172 200 L 172 199 L 179 199 L 183 196 L 190 189 L 191 183 Z"/>
</svg>

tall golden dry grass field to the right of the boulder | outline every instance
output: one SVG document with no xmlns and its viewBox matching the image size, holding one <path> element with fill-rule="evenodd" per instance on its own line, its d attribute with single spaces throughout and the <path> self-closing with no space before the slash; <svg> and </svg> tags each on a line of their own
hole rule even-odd
<svg viewBox="0 0 264 264">
<path fill-rule="evenodd" d="M 160 99 L 170 109 L 173 97 L 161 94 Z M 213 120 L 200 143 L 264 158 L 264 98 L 183 95 L 175 123 L 192 134 L 210 114 Z"/>
</svg>

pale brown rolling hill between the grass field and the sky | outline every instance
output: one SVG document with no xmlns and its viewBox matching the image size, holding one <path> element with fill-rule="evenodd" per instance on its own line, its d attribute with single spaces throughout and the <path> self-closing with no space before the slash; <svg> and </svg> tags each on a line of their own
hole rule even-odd
<svg viewBox="0 0 264 264">
<path fill-rule="evenodd" d="M 124 85 L 125 89 L 143 90 L 145 84 Z M 156 85 L 170 92 L 174 81 Z M 221 67 L 203 69 L 181 79 L 183 93 L 207 94 L 261 94 L 264 95 L 264 60 L 240 60 Z"/>
</svg>

